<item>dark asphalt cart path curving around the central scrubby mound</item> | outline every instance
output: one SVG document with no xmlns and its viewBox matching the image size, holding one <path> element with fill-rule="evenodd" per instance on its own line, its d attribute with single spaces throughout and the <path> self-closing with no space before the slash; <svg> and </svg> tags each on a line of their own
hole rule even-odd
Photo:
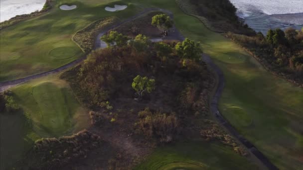
<svg viewBox="0 0 303 170">
<path fill-rule="evenodd" d="M 100 37 L 103 36 L 105 33 L 107 33 L 109 30 L 116 28 L 126 22 L 135 20 L 136 18 L 151 12 L 151 11 L 162 11 L 164 13 L 166 13 L 167 15 L 169 15 L 171 18 L 173 18 L 173 13 L 169 10 L 165 10 L 165 9 L 161 9 L 161 8 L 145 8 L 144 11 L 120 22 L 117 23 L 115 25 L 112 25 L 108 28 L 106 28 L 105 30 L 103 30 L 102 32 L 100 32 L 97 37 L 96 37 L 96 43 L 95 43 L 95 48 L 94 49 L 98 49 L 98 48 L 105 48 L 106 44 L 104 42 L 102 42 L 100 40 Z M 183 41 L 185 38 L 184 36 L 175 28 L 173 27 L 172 29 L 170 29 L 169 35 L 167 37 L 165 37 L 164 39 L 173 39 L 173 40 L 180 40 Z M 60 71 L 63 71 L 65 69 L 68 69 L 70 67 L 75 66 L 76 64 L 81 63 L 86 57 L 83 57 L 81 59 L 75 60 L 71 63 L 68 63 L 62 67 L 59 67 L 57 69 L 48 71 L 48 72 L 44 72 L 44 73 L 40 73 L 37 75 L 33 75 L 33 76 L 29 76 L 26 78 L 22 78 L 22 79 L 17 79 L 17 80 L 12 80 L 12 81 L 7 81 L 7 82 L 1 82 L 0 83 L 0 92 L 15 86 L 15 85 L 19 85 L 25 82 L 28 82 L 30 80 L 34 80 L 37 78 L 41 78 L 50 74 L 54 74 L 54 73 L 58 73 Z M 267 167 L 269 170 L 279 170 L 275 165 L 273 165 L 268 158 L 266 158 L 251 142 L 249 142 L 247 139 L 245 139 L 243 136 L 241 136 L 236 130 L 235 128 L 228 122 L 226 121 L 226 119 L 219 113 L 216 114 L 217 112 L 219 112 L 218 109 L 218 101 L 220 99 L 220 96 L 222 94 L 223 88 L 224 88 L 224 74 L 223 72 L 220 70 L 220 68 L 218 66 L 216 66 L 213 61 L 211 60 L 210 56 L 207 54 L 203 54 L 202 55 L 202 60 L 209 66 L 211 67 L 211 69 L 216 72 L 216 74 L 218 75 L 218 86 L 215 92 L 215 95 L 213 96 L 211 103 L 210 103 L 210 109 L 212 111 L 212 113 L 215 115 L 215 117 L 217 118 L 217 120 L 235 137 L 237 138 L 252 154 L 254 154 L 260 161 L 261 163 Z"/>
</svg>

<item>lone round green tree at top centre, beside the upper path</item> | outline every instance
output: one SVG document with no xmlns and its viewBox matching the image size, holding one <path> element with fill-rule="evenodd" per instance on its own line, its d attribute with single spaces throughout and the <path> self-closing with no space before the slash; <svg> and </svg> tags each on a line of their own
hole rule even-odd
<svg viewBox="0 0 303 170">
<path fill-rule="evenodd" d="M 166 14 L 157 14 L 152 17 L 152 25 L 165 30 L 172 27 L 173 21 Z"/>
</svg>

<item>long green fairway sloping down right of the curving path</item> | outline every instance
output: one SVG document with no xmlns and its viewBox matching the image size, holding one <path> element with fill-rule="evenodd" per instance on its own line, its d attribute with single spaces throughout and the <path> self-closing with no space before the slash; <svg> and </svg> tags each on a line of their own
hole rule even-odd
<svg viewBox="0 0 303 170">
<path fill-rule="evenodd" d="M 302 88 L 266 72 L 238 45 L 182 13 L 174 0 L 134 1 L 173 11 L 182 33 L 201 41 L 224 72 L 223 115 L 280 169 L 303 169 Z"/>
</svg>

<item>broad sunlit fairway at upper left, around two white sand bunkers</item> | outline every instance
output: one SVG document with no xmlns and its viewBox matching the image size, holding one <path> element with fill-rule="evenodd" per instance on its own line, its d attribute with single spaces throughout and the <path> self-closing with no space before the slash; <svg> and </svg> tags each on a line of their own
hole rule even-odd
<svg viewBox="0 0 303 170">
<path fill-rule="evenodd" d="M 71 39 L 74 33 L 95 20 L 114 15 L 124 19 L 141 10 L 127 4 L 125 10 L 108 12 L 104 8 L 110 1 L 114 0 L 56 0 L 47 14 L 1 30 L 0 82 L 46 72 L 82 57 L 83 52 Z M 59 9 L 64 3 L 77 8 Z"/>
</svg>

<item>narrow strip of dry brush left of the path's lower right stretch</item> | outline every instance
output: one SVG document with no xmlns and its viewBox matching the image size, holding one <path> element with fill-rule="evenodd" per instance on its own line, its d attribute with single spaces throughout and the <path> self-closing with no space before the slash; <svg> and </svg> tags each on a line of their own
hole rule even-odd
<svg viewBox="0 0 303 170">
<path fill-rule="evenodd" d="M 202 129 L 200 134 L 206 141 L 218 140 L 225 145 L 231 146 L 233 150 L 240 155 L 245 156 L 248 154 L 247 151 L 237 144 L 230 135 L 226 134 L 218 124 L 211 120 L 204 120 L 204 124 L 207 127 Z"/>
</svg>

